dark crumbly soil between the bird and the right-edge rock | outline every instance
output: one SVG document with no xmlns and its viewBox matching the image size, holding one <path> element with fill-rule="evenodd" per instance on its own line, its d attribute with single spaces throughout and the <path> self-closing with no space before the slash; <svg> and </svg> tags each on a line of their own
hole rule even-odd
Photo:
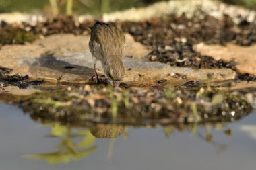
<svg viewBox="0 0 256 170">
<path fill-rule="evenodd" d="M 199 42 L 205 44 L 222 44 L 228 42 L 240 46 L 249 46 L 256 42 L 256 24 L 241 19 L 234 24 L 225 16 L 218 20 L 204 15 L 203 19 L 193 17 L 156 18 L 149 22 L 122 22 L 121 27 L 129 32 L 135 40 L 152 46 L 148 54 L 149 60 L 158 60 L 172 66 L 200 68 L 232 68 L 235 62 L 214 60 L 211 56 L 201 55 L 193 50 L 193 45 Z"/>
</svg>

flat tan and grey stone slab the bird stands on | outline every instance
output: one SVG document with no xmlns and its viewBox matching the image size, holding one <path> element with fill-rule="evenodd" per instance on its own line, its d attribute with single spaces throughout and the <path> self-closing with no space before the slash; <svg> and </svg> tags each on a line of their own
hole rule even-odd
<svg viewBox="0 0 256 170">
<path fill-rule="evenodd" d="M 13 69 L 12 74 L 29 75 L 30 79 L 57 82 L 62 77 L 60 82 L 63 83 L 88 83 L 93 68 L 92 56 L 88 50 L 89 39 L 88 35 L 59 34 L 24 46 L 3 46 L 0 50 L 0 63 L 2 67 Z M 234 79 L 236 75 L 231 69 L 194 70 L 144 61 L 141 59 L 148 54 L 147 49 L 131 38 L 127 40 L 125 55 L 133 58 L 123 58 L 126 70 L 123 83 L 141 85 L 164 82 L 179 85 L 189 80 L 206 81 L 208 74 L 212 75 L 212 81 Z M 99 62 L 97 69 L 103 74 Z"/>
</svg>

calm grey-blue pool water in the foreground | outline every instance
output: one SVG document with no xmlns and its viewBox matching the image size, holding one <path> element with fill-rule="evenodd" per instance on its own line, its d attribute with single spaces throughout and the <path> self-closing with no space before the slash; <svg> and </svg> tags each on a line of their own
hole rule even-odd
<svg viewBox="0 0 256 170">
<path fill-rule="evenodd" d="M 24 155 L 57 151 L 61 137 L 49 137 L 50 126 L 34 122 L 19 108 L 1 103 L 0 108 L 0 170 L 255 169 L 256 114 L 228 124 L 233 133 L 230 137 L 223 130 L 212 130 L 212 142 L 200 136 L 205 128 L 199 128 L 197 134 L 174 130 L 166 138 L 161 127 L 129 127 L 126 140 L 124 134 L 116 139 L 96 139 L 92 145 L 97 148 L 87 157 L 50 165 Z"/>
</svg>

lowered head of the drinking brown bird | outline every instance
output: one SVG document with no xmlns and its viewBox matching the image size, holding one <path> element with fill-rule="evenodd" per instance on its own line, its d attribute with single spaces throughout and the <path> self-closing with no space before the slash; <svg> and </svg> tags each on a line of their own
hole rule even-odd
<svg viewBox="0 0 256 170">
<path fill-rule="evenodd" d="M 125 67 L 123 67 L 122 60 L 118 57 L 113 57 L 108 60 L 103 67 L 108 81 L 110 81 L 114 87 L 119 87 L 125 76 Z"/>
</svg>

